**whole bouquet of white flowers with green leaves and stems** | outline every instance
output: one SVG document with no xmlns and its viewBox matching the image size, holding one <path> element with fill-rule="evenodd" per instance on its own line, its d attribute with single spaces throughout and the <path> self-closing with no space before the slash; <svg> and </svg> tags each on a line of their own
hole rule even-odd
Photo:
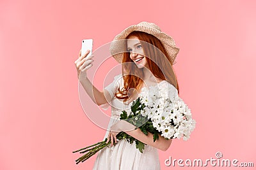
<svg viewBox="0 0 256 170">
<path fill-rule="evenodd" d="M 178 96 L 177 89 L 173 85 L 166 81 L 166 83 L 159 83 L 158 87 L 158 89 L 150 87 L 149 90 L 143 87 L 138 99 L 132 103 L 131 113 L 128 115 L 126 111 L 122 111 L 120 120 L 135 125 L 136 129 L 140 128 L 146 135 L 148 132 L 152 133 L 154 141 L 159 138 L 159 134 L 165 139 L 189 139 L 189 135 L 195 129 L 196 124 L 195 120 L 192 119 L 190 109 Z M 125 132 L 119 132 L 116 139 L 125 139 L 129 143 L 135 141 L 136 148 L 141 153 L 146 145 Z M 84 162 L 111 143 L 111 141 L 109 143 L 106 141 L 107 139 L 75 151 L 87 152 L 76 160 L 76 164 Z"/>
</svg>

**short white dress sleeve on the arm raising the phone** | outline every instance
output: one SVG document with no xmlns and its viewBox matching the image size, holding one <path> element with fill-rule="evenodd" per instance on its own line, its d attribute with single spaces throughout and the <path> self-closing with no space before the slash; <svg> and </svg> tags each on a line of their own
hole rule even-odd
<svg viewBox="0 0 256 170">
<path fill-rule="evenodd" d="M 112 83 L 110 83 L 107 87 L 104 88 L 104 90 L 107 90 L 111 96 L 111 99 L 115 97 L 115 92 L 118 89 L 120 85 L 120 78 L 122 77 L 122 74 L 118 74 L 117 76 L 114 77 L 114 80 Z M 101 104 L 100 107 L 103 110 L 108 110 L 109 103 L 106 104 Z"/>
</svg>

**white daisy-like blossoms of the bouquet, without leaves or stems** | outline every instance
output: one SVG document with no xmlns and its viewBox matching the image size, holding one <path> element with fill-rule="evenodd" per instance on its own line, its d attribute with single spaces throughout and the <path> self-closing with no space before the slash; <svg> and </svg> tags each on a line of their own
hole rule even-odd
<svg viewBox="0 0 256 170">
<path fill-rule="evenodd" d="M 192 119 L 188 105 L 179 97 L 172 84 L 160 83 L 159 89 L 150 87 L 149 91 L 141 90 L 140 97 L 145 104 L 141 115 L 150 118 L 161 136 L 166 139 L 189 139 L 196 122 Z"/>
</svg>

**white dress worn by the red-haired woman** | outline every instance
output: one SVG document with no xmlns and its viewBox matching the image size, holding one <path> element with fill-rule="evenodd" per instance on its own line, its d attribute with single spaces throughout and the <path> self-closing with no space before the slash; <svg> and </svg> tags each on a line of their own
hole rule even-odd
<svg viewBox="0 0 256 170">
<path fill-rule="evenodd" d="M 126 110 L 129 114 L 131 111 L 131 104 L 124 104 L 122 100 L 117 99 L 114 93 L 117 91 L 118 86 L 122 86 L 124 79 L 122 74 L 115 76 L 115 80 L 109 84 L 105 89 L 113 97 L 111 101 L 111 119 L 108 124 L 108 129 L 120 121 L 120 113 Z M 122 87 L 120 87 L 122 89 Z M 107 109 L 109 104 L 103 104 L 101 107 Z M 109 131 L 106 132 L 103 139 L 108 138 Z M 113 146 L 105 147 L 97 153 L 97 158 L 93 165 L 94 170 L 158 170 L 160 168 L 159 155 L 157 148 L 145 145 L 143 153 L 141 153 L 135 145 L 135 142 L 130 144 L 124 139 L 117 141 Z"/>
</svg>

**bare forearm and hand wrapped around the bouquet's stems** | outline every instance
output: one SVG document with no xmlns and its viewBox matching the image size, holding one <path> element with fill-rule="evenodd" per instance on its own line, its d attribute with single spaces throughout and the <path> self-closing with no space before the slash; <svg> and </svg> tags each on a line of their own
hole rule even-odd
<svg viewBox="0 0 256 170">
<path fill-rule="evenodd" d="M 119 122 L 114 124 L 110 130 L 113 131 L 113 134 L 116 134 L 115 132 L 124 131 L 125 133 L 129 134 L 133 138 L 136 138 L 147 145 L 153 146 L 163 151 L 168 150 L 168 148 L 172 143 L 172 139 L 166 140 L 164 139 L 163 136 L 160 136 L 160 135 L 159 135 L 159 139 L 154 142 L 152 133 L 148 132 L 148 135 L 145 135 L 140 130 L 140 128 L 135 129 L 134 125 L 130 124 L 129 122 L 126 122 L 125 120 L 120 120 Z"/>
</svg>

